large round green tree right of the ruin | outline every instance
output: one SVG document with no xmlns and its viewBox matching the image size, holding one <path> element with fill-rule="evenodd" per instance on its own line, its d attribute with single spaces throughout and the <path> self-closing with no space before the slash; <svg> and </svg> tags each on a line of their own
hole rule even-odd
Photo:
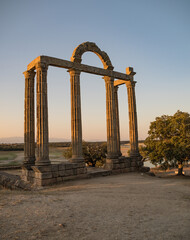
<svg viewBox="0 0 190 240">
<path fill-rule="evenodd" d="M 144 145 L 143 157 L 164 169 L 178 165 L 181 175 L 184 161 L 190 158 L 189 113 L 177 111 L 173 116 L 157 117 L 150 124 Z"/>
</svg>

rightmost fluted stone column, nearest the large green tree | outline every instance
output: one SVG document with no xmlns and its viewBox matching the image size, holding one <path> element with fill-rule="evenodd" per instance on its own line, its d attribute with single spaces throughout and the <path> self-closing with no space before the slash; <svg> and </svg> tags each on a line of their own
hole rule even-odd
<svg viewBox="0 0 190 240">
<path fill-rule="evenodd" d="M 128 81 L 126 83 L 129 108 L 129 136 L 131 157 L 139 156 L 135 84 L 135 81 Z"/>
</svg>

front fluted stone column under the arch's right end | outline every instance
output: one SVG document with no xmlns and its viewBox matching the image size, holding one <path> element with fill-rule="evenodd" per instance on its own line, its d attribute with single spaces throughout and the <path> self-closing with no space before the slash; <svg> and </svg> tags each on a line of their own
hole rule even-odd
<svg viewBox="0 0 190 240">
<path fill-rule="evenodd" d="M 116 108 L 114 98 L 114 79 L 104 77 L 106 86 L 106 118 L 107 118 L 107 159 L 117 159 Z"/>
</svg>

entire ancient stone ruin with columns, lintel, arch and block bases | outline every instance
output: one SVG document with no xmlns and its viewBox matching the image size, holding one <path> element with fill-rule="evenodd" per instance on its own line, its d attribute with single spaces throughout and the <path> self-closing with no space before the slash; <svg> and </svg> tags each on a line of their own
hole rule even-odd
<svg viewBox="0 0 190 240">
<path fill-rule="evenodd" d="M 104 68 L 82 64 L 85 52 L 95 53 Z M 71 142 L 72 158 L 61 164 L 51 164 L 49 159 L 47 70 L 49 66 L 68 69 L 71 86 Z M 126 74 L 113 71 L 113 65 L 104 51 L 95 43 L 84 42 L 75 48 L 71 61 L 39 56 L 27 66 L 25 75 L 24 109 L 24 163 L 22 179 L 37 186 L 63 182 L 68 179 L 87 176 L 82 153 L 82 124 L 80 73 L 86 72 L 103 76 L 106 88 L 107 157 L 105 169 L 111 173 L 139 171 L 142 157 L 138 149 L 137 112 L 133 68 Z M 37 156 L 35 156 L 35 114 L 34 79 L 36 75 L 37 98 Z M 118 87 L 125 84 L 128 93 L 130 156 L 124 157 L 120 150 L 120 129 L 118 111 Z"/>
</svg>

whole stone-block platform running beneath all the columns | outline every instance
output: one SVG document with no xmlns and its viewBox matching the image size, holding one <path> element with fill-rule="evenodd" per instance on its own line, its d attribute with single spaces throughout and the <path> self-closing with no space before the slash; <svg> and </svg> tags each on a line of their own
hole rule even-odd
<svg viewBox="0 0 190 240">
<path fill-rule="evenodd" d="M 140 159 L 129 157 L 107 159 L 105 169 L 87 168 L 84 162 L 71 163 L 68 161 L 48 166 L 31 166 L 30 168 L 23 166 L 21 178 L 36 186 L 47 186 L 68 180 L 141 171 L 142 165 Z"/>
</svg>

